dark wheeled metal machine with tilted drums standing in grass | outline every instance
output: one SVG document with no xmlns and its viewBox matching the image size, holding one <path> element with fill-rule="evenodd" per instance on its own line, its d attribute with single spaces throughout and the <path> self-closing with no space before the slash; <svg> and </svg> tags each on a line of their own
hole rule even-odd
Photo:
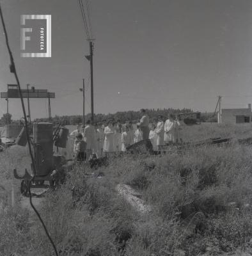
<svg viewBox="0 0 252 256">
<path fill-rule="evenodd" d="M 35 161 L 35 170 L 31 164 L 31 174 L 25 170 L 21 177 L 14 169 L 15 179 L 21 179 L 20 191 L 22 195 L 28 195 L 28 184 L 31 179 L 30 188 L 53 188 L 61 179 L 59 175 L 52 175 L 55 171 L 64 171 L 67 168 L 67 161 L 61 155 L 56 155 L 53 152 L 53 146 L 65 148 L 67 144 L 68 129 L 61 127 L 59 124 L 56 129 L 53 129 L 51 123 L 35 123 L 33 127 L 29 127 L 31 134 L 31 145 L 33 147 L 33 157 Z M 53 131 L 54 130 L 54 131 Z M 27 143 L 26 130 L 23 127 L 17 140 L 17 145 L 25 146 Z M 45 184 L 48 181 L 49 184 Z"/>
</svg>

